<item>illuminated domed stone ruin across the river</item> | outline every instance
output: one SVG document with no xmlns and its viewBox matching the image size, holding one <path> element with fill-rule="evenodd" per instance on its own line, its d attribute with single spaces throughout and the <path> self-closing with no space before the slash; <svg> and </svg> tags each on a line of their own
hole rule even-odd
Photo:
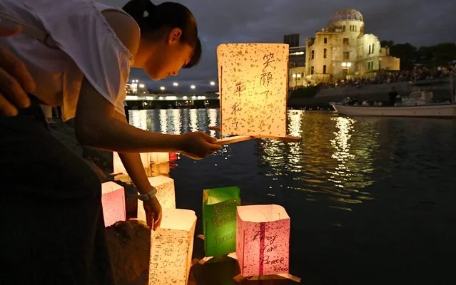
<svg viewBox="0 0 456 285">
<path fill-rule="evenodd" d="M 397 71 L 400 59 L 390 56 L 380 39 L 365 33 L 360 11 L 342 9 L 326 28 L 305 40 L 305 80 L 333 83 L 360 77 L 375 77 L 382 70 Z"/>
</svg>

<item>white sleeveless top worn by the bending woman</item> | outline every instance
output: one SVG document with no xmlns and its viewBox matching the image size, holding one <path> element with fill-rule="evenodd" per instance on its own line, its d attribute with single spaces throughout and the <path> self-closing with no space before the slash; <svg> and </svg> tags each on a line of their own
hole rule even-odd
<svg viewBox="0 0 456 285">
<path fill-rule="evenodd" d="M 43 28 L 56 41 L 59 48 L 51 48 L 19 34 L 0 38 L 0 45 L 24 61 L 36 83 L 34 95 L 48 105 L 60 105 L 63 120 L 76 114 L 83 77 L 116 112 L 125 114 L 133 56 L 101 14 L 112 9 L 126 14 L 93 0 L 0 0 L 2 12 Z"/>
</svg>

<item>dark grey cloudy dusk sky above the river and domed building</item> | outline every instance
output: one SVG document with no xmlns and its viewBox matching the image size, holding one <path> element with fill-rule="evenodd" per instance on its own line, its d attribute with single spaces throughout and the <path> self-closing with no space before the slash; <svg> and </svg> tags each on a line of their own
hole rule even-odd
<svg viewBox="0 0 456 285">
<path fill-rule="evenodd" d="M 123 6 L 126 0 L 104 0 Z M 363 14 L 365 33 L 395 43 L 410 42 L 430 46 L 456 41 L 455 0 L 181 0 L 195 15 L 203 43 L 203 57 L 198 66 L 182 70 L 178 76 L 151 81 L 146 73 L 133 70 L 149 88 L 166 86 L 186 92 L 195 84 L 196 91 L 215 90 L 209 81 L 217 80 L 216 47 L 220 43 L 282 43 L 283 35 L 300 33 L 300 45 L 306 37 L 324 28 L 335 11 L 357 9 Z M 160 4 L 161 1 L 153 1 Z M 174 89 L 175 90 L 175 89 Z"/>
</svg>

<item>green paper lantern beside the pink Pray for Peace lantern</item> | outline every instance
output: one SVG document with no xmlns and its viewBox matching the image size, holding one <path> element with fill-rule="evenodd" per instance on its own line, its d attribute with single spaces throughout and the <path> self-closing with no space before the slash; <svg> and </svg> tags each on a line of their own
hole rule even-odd
<svg viewBox="0 0 456 285">
<path fill-rule="evenodd" d="M 236 207 L 240 205 L 238 187 L 203 191 L 203 229 L 206 257 L 235 252 Z"/>
</svg>

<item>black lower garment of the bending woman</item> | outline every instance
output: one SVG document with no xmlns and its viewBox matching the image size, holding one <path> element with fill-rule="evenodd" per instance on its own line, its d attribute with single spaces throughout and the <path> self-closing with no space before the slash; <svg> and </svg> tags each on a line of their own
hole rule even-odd
<svg viewBox="0 0 456 285">
<path fill-rule="evenodd" d="M 31 100 L 0 117 L 0 284 L 113 284 L 101 182 Z"/>
</svg>

